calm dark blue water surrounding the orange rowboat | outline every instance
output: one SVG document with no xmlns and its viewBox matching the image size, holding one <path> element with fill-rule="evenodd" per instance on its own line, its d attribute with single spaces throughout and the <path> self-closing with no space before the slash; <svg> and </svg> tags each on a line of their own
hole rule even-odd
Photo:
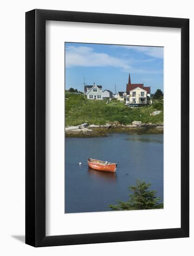
<svg viewBox="0 0 194 256">
<path fill-rule="evenodd" d="M 116 173 L 88 168 L 88 157 L 116 162 Z M 65 213 L 110 211 L 109 204 L 127 201 L 136 179 L 152 183 L 163 202 L 163 135 L 65 139 Z"/>
</svg>

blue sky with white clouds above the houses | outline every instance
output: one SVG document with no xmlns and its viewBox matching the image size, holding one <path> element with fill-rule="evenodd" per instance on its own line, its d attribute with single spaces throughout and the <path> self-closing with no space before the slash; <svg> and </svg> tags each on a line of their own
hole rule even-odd
<svg viewBox="0 0 194 256">
<path fill-rule="evenodd" d="M 65 43 L 65 64 L 66 89 L 83 91 L 85 77 L 87 85 L 125 91 L 130 73 L 131 83 L 163 91 L 163 47 Z"/>
</svg>

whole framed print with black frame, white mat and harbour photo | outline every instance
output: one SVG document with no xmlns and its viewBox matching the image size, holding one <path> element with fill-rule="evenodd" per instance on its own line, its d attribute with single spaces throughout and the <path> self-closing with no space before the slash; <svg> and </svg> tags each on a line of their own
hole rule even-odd
<svg viewBox="0 0 194 256">
<path fill-rule="evenodd" d="M 189 236 L 189 20 L 26 13 L 26 243 Z"/>
</svg>

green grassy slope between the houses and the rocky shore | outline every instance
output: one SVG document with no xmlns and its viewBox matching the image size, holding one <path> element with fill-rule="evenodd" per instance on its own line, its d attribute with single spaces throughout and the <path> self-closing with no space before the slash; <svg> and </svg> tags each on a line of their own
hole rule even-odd
<svg viewBox="0 0 194 256">
<path fill-rule="evenodd" d="M 155 124 L 163 122 L 163 102 L 155 102 L 151 106 L 140 108 L 128 108 L 123 102 L 115 100 L 106 105 L 106 101 L 87 100 L 84 96 L 77 94 L 66 93 L 65 97 L 66 126 L 79 125 L 83 122 L 96 125 L 114 122 L 131 124 L 134 120 Z M 150 116 L 150 113 L 155 110 L 162 110 L 162 112 L 159 115 Z"/>
</svg>

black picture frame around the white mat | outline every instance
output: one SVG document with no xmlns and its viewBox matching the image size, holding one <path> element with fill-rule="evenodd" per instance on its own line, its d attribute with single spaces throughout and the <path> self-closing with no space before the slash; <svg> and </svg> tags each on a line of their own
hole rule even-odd
<svg viewBox="0 0 194 256">
<path fill-rule="evenodd" d="M 46 236 L 46 20 L 181 28 L 181 228 Z M 26 243 L 34 247 L 42 247 L 188 237 L 188 95 L 189 19 L 39 9 L 27 12 Z"/>
</svg>

